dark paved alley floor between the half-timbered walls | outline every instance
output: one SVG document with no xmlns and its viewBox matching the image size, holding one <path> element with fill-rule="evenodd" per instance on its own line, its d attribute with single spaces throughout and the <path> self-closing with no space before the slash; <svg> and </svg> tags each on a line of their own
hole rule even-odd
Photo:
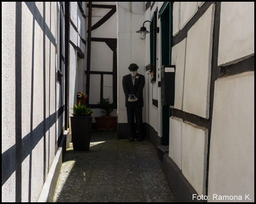
<svg viewBox="0 0 256 204">
<path fill-rule="evenodd" d="M 147 138 L 93 131 L 89 151 L 66 152 L 53 202 L 176 202 L 161 166 Z"/>
</svg>

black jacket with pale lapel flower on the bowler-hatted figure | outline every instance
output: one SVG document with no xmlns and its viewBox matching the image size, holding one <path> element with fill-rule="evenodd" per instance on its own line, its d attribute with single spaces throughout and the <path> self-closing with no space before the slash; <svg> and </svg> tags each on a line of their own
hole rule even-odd
<svg viewBox="0 0 256 204">
<path fill-rule="evenodd" d="M 145 85 L 145 76 L 137 74 L 138 79 L 135 78 L 135 83 L 131 80 L 131 74 L 123 76 L 123 92 L 125 92 L 125 107 L 143 107 L 143 87 Z M 137 101 L 129 102 L 129 94 L 135 92 Z"/>
</svg>

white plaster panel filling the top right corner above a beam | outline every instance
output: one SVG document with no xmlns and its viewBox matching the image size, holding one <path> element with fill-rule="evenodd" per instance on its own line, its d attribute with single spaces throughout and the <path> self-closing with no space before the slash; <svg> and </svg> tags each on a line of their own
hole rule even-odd
<svg viewBox="0 0 256 204">
<path fill-rule="evenodd" d="M 254 2 L 221 2 L 218 66 L 254 55 Z"/>
</svg>

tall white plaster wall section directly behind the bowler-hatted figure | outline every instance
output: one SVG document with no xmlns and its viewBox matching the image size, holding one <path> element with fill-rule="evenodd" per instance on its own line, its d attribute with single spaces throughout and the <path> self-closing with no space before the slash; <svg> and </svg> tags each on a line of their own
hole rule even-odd
<svg viewBox="0 0 256 204">
<path fill-rule="evenodd" d="M 144 40 L 136 33 L 144 22 L 143 13 L 143 2 L 118 2 L 118 123 L 127 122 L 122 78 L 129 74 L 129 65 L 136 63 L 139 66 L 138 73 L 144 75 Z"/>
</svg>

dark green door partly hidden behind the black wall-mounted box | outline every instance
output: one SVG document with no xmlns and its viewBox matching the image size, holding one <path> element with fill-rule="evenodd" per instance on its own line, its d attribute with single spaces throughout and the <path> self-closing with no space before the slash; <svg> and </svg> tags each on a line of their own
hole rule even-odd
<svg viewBox="0 0 256 204">
<path fill-rule="evenodd" d="M 171 39 L 172 39 L 172 8 L 171 2 L 164 2 L 159 11 L 161 21 L 161 39 L 162 39 L 162 65 L 171 65 Z M 170 130 L 170 105 L 162 105 L 162 144 L 169 145 Z"/>
</svg>

